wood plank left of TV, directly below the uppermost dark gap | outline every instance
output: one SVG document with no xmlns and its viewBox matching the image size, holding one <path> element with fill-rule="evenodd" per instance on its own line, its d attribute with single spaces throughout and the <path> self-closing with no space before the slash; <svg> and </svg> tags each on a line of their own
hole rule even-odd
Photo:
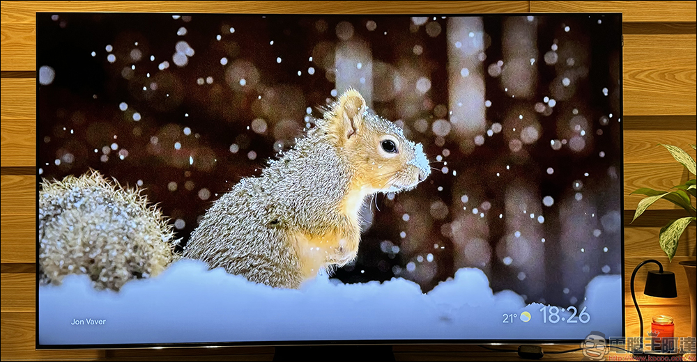
<svg viewBox="0 0 697 362">
<path fill-rule="evenodd" d="M 0 79 L 0 102 L 2 123 L 5 120 L 36 120 L 36 79 Z"/>
</svg>

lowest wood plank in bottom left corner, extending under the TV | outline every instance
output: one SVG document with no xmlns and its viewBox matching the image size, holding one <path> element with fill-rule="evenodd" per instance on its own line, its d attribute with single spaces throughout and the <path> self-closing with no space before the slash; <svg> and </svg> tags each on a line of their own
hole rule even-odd
<svg viewBox="0 0 697 362">
<path fill-rule="evenodd" d="M 95 361 L 103 359 L 105 352 L 96 349 L 71 351 L 37 351 L 35 349 L 36 334 L 34 324 L 36 313 L 33 312 L 2 312 L 2 348 L 0 358 L 3 361 L 13 360 L 52 360 L 52 361 Z"/>
</svg>

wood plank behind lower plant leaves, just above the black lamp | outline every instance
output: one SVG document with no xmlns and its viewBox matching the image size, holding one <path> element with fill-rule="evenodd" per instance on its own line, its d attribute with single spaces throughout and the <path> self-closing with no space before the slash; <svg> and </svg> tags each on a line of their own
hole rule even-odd
<svg viewBox="0 0 697 362">
<path fill-rule="evenodd" d="M 630 219 L 631 221 L 631 219 Z M 627 221 L 629 223 L 629 221 Z M 627 227 L 625 226 L 625 258 L 650 258 L 656 256 L 665 256 L 658 242 L 658 236 L 661 228 L 645 228 L 645 227 Z M 695 236 L 697 235 L 697 226 L 692 223 L 687 230 L 682 233 L 680 241 L 677 244 L 675 256 L 691 256 L 696 255 Z"/>
</svg>

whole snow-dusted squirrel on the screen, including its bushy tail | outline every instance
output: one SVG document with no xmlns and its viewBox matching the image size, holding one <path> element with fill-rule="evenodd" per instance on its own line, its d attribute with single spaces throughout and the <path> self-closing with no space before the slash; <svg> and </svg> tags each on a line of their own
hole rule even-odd
<svg viewBox="0 0 697 362">
<path fill-rule="evenodd" d="M 348 89 L 323 119 L 261 176 L 243 178 L 213 203 L 184 247 L 173 252 L 168 219 L 142 190 L 90 171 L 43 180 L 39 192 L 40 283 L 87 274 L 96 289 L 162 272 L 178 258 L 224 267 L 280 288 L 299 288 L 355 259 L 359 211 L 377 192 L 413 189 L 431 173 L 422 145 L 369 113 Z"/>
</svg>

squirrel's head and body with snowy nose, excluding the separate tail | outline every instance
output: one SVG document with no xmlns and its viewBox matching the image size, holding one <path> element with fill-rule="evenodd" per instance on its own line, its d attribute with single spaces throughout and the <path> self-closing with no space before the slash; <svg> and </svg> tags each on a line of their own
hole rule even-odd
<svg viewBox="0 0 697 362">
<path fill-rule="evenodd" d="M 413 189 L 431 168 L 422 145 L 369 112 L 358 91 L 322 110 L 293 148 L 213 203 L 183 258 L 290 289 L 356 258 L 363 200 Z"/>
</svg>

